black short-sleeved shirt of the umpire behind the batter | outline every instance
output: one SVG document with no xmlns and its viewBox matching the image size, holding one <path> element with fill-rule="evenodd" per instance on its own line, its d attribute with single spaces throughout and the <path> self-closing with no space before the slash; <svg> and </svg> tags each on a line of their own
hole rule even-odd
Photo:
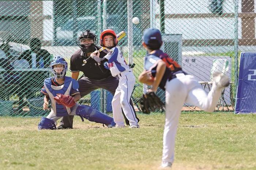
<svg viewBox="0 0 256 170">
<path fill-rule="evenodd" d="M 96 46 L 95 50 L 99 49 L 100 47 Z M 103 50 L 100 52 L 99 57 L 103 58 L 106 54 L 107 51 Z M 85 64 L 83 60 L 86 60 L 87 58 L 88 57 L 84 55 L 81 49 L 76 51 L 70 58 L 69 70 L 71 72 L 82 71 L 84 76 L 94 80 L 101 80 L 112 76 L 110 70 L 104 68 L 103 64 L 98 65 L 98 63 L 92 58 L 88 59 Z"/>
</svg>

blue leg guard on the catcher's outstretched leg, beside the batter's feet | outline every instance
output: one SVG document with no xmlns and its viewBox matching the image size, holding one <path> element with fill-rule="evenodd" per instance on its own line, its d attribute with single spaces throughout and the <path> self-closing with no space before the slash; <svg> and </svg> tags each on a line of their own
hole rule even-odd
<svg viewBox="0 0 256 170">
<path fill-rule="evenodd" d="M 90 106 L 87 105 L 79 105 L 76 108 L 76 115 L 80 116 L 82 121 L 84 121 L 83 118 L 88 119 L 91 122 L 96 123 L 102 123 L 102 124 L 111 124 L 113 126 L 116 125 L 114 122 L 114 119 L 108 115 L 105 115 L 98 110 L 93 109 Z"/>
</svg>

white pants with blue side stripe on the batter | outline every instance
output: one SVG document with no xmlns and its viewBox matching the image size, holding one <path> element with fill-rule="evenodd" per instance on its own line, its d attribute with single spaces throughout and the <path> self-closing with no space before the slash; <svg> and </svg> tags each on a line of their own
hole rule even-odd
<svg viewBox="0 0 256 170">
<path fill-rule="evenodd" d="M 135 84 L 135 76 L 131 71 L 124 71 L 118 74 L 119 84 L 112 100 L 113 118 L 116 126 L 124 126 L 122 107 L 129 124 L 138 126 L 138 119 L 131 104 L 129 103 L 132 90 Z"/>
</svg>

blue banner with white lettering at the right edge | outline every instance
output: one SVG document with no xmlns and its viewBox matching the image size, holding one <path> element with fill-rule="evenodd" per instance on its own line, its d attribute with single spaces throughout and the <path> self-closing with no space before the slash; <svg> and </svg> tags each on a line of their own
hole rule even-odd
<svg viewBox="0 0 256 170">
<path fill-rule="evenodd" d="M 256 113 L 256 52 L 241 53 L 235 113 Z"/>
</svg>

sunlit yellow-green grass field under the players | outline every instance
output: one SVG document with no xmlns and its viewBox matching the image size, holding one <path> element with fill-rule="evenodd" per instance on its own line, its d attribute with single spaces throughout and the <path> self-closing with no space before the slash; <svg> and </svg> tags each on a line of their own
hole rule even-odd
<svg viewBox="0 0 256 170">
<path fill-rule="evenodd" d="M 40 118 L 0 117 L 0 169 L 157 169 L 164 115 L 139 114 L 140 129 L 37 130 Z M 184 112 L 173 169 L 256 169 L 256 115 Z"/>
</svg>

